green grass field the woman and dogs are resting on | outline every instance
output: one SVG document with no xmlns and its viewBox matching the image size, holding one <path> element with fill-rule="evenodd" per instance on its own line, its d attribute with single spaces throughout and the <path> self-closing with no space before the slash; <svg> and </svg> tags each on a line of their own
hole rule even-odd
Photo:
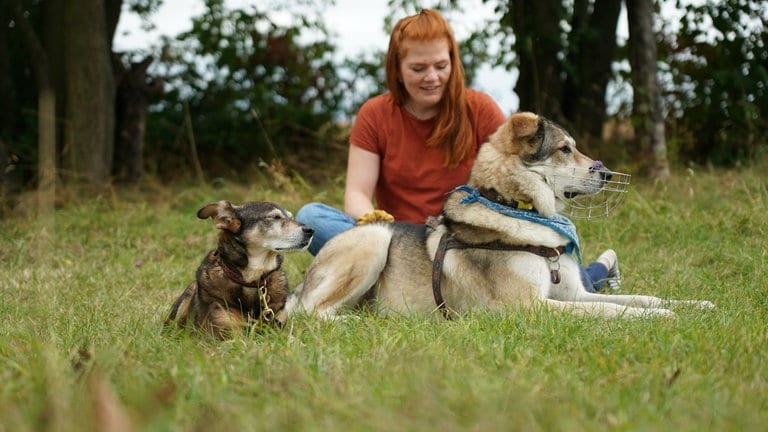
<svg viewBox="0 0 768 432">
<path fill-rule="evenodd" d="M 341 182 L 113 191 L 64 204 L 47 240 L 33 217 L 2 220 L 0 432 L 764 429 L 766 168 L 635 179 L 610 219 L 578 222 L 585 258 L 619 252 L 622 291 L 718 306 L 673 319 L 363 313 L 226 342 L 164 336 L 215 242 L 194 217 L 201 205 L 265 199 L 295 212 L 338 204 Z M 292 285 L 309 259 L 287 256 Z"/>
</svg>

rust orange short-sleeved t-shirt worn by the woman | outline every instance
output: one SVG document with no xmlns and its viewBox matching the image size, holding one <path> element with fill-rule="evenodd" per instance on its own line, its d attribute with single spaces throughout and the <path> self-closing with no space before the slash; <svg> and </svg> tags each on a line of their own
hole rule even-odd
<svg viewBox="0 0 768 432">
<path fill-rule="evenodd" d="M 475 148 L 456 168 L 444 165 L 444 154 L 426 146 L 435 119 L 419 120 L 394 103 L 390 93 L 367 100 L 357 113 L 350 143 L 379 155 L 376 207 L 395 220 L 423 223 L 437 216 L 446 193 L 469 178 L 478 148 L 504 123 L 506 116 L 487 94 L 467 90 L 475 124 Z"/>
</svg>

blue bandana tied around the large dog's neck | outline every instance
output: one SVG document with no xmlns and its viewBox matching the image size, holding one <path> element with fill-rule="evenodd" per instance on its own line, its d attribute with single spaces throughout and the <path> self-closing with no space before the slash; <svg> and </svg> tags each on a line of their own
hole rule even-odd
<svg viewBox="0 0 768 432">
<path fill-rule="evenodd" d="M 488 198 L 480 195 L 477 189 L 471 188 L 467 185 L 458 186 L 454 191 L 460 190 L 466 192 L 469 195 L 462 198 L 459 201 L 461 204 L 471 204 L 479 202 L 480 204 L 488 207 L 496 213 L 503 214 L 504 216 L 513 217 L 515 219 L 522 219 L 528 222 L 535 222 L 540 225 L 544 225 L 547 228 L 554 230 L 556 233 L 563 235 L 571 242 L 568 243 L 565 250 L 567 253 L 573 253 L 581 263 L 581 250 L 579 249 L 579 236 L 576 234 L 576 226 L 565 216 L 555 214 L 551 218 L 544 217 L 536 210 L 518 210 L 516 208 L 507 207 L 499 204 L 495 201 L 491 201 Z"/>
</svg>

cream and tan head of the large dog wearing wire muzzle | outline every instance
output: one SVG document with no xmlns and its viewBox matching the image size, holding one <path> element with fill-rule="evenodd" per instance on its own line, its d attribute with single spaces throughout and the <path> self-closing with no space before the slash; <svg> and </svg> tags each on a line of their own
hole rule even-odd
<svg viewBox="0 0 768 432">
<path fill-rule="evenodd" d="M 557 201 L 595 194 L 610 178 L 611 171 L 579 152 L 565 129 L 523 112 L 511 115 L 481 147 L 470 180 L 552 216 Z"/>
</svg>

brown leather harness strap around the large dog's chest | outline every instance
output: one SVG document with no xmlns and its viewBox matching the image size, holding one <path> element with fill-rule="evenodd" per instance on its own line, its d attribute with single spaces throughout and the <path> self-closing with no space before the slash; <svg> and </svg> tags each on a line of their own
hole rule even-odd
<svg viewBox="0 0 768 432">
<path fill-rule="evenodd" d="M 435 259 L 432 261 L 432 294 L 435 297 L 435 303 L 440 313 L 447 320 L 452 319 L 451 312 L 445 305 L 443 299 L 443 293 L 440 289 L 440 281 L 443 275 L 443 261 L 445 261 L 445 254 L 448 249 L 485 249 L 485 250 L 498 250 L 498 251 L 520 251 L 529 252 L 540 257 L 548 258 L 550 264 L 557 264 L 557 266 L 550 266 L 550 277 L 552 283 L 560 283 L 559 264 L 557 260 L 560 259 L 560 255 L 566 253 L 565 246 L 559 246 L 556 248 L 546 246 L 530 246 L 530 245 L 511 245 L 501 241 L 492 241 L 486 243 L 469 244 L 464 243 L 461 240 L 454 238 L 452 235 L 443 234 L 440 237 L 440 243 L 437 245 L 435 251 Z"/>
</svg>

